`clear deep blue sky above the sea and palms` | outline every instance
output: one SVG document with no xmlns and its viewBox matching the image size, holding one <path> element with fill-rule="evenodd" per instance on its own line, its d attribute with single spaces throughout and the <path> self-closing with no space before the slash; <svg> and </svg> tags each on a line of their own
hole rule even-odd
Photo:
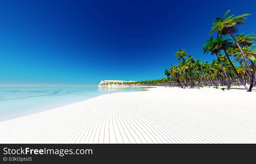
<svg viewBox="0 0 256 164">
<path fill-rule="evenodd" d="M 212 20 L 251 13 L 255 1 L 1 1 L 0 84 L 92 85 L 165 77 L 175 53 L 201 60 Z M 214 33 L 212 36 L 216 36 Z"/>
</svg>

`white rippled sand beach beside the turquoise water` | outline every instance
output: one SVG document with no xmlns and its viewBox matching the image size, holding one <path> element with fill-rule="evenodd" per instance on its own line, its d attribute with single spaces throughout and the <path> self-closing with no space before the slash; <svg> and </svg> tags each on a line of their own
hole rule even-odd
<svg viewBox="0 0 256 164">
<path fill-rule="evenodd" d="M 112 93 L 2 121 L 0 143 L 256 143 L 255 98 L 242 87 Z"/>
</svg>

